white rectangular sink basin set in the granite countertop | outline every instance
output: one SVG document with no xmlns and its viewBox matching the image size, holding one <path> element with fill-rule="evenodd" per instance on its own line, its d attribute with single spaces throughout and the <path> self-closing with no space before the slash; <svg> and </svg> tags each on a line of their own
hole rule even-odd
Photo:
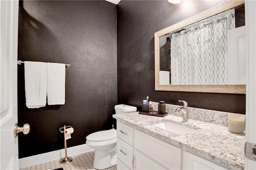
<svg viewBox="0 0 256 170">
<path fill-rule="evenodd" d="M 153 125 L 178 134 L 187 134 L 195 131 L 195 129 L 183 127 L 170 122 L 155 123 Z"/>
</svg>

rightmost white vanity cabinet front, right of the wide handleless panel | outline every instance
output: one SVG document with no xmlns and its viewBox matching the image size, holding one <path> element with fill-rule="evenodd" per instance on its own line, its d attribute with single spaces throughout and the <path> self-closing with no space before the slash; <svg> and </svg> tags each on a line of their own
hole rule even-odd
<svg viewBox="0 0 256 170">
<path fill-rule="evenodd" d="M 186 151 L 183 152 L 182 167 L 184 170 L 227 170 L 210 160 L 206 160 Z"/>
</svg>

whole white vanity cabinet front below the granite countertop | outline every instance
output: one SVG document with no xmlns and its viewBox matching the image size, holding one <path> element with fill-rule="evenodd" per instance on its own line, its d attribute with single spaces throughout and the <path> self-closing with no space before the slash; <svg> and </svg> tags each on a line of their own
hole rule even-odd
<svg viewBox="0 0 256 170">
<path fill-rule="evenodd" d="M 117 158 L 118 170 L 226 169 L 119 121 L 117 121 Z"/>
</svg>

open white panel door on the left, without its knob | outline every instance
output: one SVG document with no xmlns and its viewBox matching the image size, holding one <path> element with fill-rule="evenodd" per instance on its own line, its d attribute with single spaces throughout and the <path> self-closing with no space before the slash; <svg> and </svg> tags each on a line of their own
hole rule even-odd
<svg viewBox="0 0 256 170">
<path fill-rule="evenodd" d="M 0 0 L 0 169 L 18 169 L 18 0 Z"/>
</svg>

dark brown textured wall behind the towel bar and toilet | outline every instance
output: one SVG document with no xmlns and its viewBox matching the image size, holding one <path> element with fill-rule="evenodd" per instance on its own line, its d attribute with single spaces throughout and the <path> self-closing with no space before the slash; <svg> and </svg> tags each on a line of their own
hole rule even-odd
<svg viewBox="0 0 256 170">
<path fill-rule="evenodd" d="M 69 63 L 65 105 L 27 109 L 24 65 L 18 66 L 19 158 L 64 148 L 59 128 L 74 128 L 68 147 L 110 129 L 117 104 L 115 4 L 106 1 L 24 1 L 19 6 L 18 59 Z"/>
</svg>

